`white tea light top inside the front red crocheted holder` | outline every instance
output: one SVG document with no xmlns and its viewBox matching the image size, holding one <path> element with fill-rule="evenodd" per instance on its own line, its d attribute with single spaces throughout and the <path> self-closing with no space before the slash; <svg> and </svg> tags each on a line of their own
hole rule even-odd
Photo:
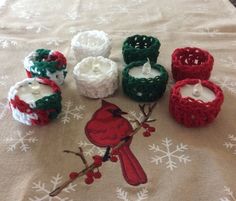
<svg viewBox="0 0 236 201">
<path fill-rule="evenodd" d="M 180 93 L 183 98 L 191 97 L 195 100 L 201 100 L 203 102 L 211 102 L 215 100 L 215 93 L 207 87 L 198 84 L 186 84 L 180 88 Z"/>
</svg>

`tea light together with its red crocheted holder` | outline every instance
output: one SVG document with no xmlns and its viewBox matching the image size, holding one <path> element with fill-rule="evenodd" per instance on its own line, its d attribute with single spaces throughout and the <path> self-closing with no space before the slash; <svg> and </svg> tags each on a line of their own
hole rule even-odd
<svg viewBox="0 0 236 201">
<path fill-rule="evenodd" d="M 169 110 L 177 122 L 186 127 L 211 123 L 224 100 L 222 90 L 208 80 L 185 79 L 171 89 Z"/>
</svg>

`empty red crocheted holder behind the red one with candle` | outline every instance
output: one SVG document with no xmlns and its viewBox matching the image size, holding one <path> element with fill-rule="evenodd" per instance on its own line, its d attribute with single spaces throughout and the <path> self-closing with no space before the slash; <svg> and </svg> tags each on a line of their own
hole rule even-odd
<svg viewBox="0 0 236 201">
<path fill-rule="evenodd" d="M 205 50 L 178 48 L 172 54 L 172 75 L 175 81 L 186 78 L 208 80 L 213 63 L 213 56 Z"/>
</svg>

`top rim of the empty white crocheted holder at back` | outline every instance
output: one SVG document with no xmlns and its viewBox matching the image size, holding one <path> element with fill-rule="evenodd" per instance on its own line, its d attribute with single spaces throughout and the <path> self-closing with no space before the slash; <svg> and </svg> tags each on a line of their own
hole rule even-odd
<svg viewBox="0 0 236 201">
<path fill-rule="evenodd" d="M 91 36 L 97 36 L 94 39 L 101 39 L 102 44 L 99 46 L 93 47 L 93 46 L 89 46 L 89 45 L 85 45 L 83 43 L 80 42 L 80 37 L 81 36 L 86 36 L 88 37 L 90 34 Z M 109 35 L 107 33 L 105 33 L 104 31 L 99 31 L 99 30 L 90 30 L 90 31 L 83 31 L 83 32 L 79 32 L 78 34 L 76 34 L 72 40 L 71 40 L 71 46 L 72 47 L 80 47 L 86 51 L 101 51 L 103 49 L 108 48 L 109 46 L 111 46 L 111 38 L 109 37 Z M 109 51 L 109 50 L 108 50 Z"/>
</svg>

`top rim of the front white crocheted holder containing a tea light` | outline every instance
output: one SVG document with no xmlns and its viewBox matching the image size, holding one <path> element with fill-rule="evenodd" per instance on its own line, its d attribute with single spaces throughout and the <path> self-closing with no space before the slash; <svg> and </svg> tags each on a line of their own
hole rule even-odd
<svg viewBox="0 0 236 201">
<path fill-rule="evenodd" d="M 87 65 L 92 65 L 92 63 L 94 61 L 98 61 L 100 64 L 103 64 L 103 63 L 107 63 L 108 66 L 109 66 L 109 69 L 108 71 L 104 74 L 104 73 L 100 73 L 96 76 L 94 75 L 87 75 L 87 74 L 84 74 L 84 72 L 82 72 L 81 68 L 87 66 Z M 86 81 L 88 80 L 88 77 L 90 80 L 94 80 L 94 81 L 99 81 L 100 79 L 105 79 L 105 78 L 108 78 L 110 77 L 112 74 L 114 73 L 117 73 L 118 74 L 118 67 L 117 67 L 117 64 L 108 59 L 108 58 L 105 58 L 103 56 L 98 56 L 98 57 L 87 57 L 87 58 L 84 58 L 81 62 L 79 62 L 75 67 L 74 67 L 74 70 L 73 70 L 73 76 L 76 80 L 81 80 L 81 81 Z"/>
</svg>

